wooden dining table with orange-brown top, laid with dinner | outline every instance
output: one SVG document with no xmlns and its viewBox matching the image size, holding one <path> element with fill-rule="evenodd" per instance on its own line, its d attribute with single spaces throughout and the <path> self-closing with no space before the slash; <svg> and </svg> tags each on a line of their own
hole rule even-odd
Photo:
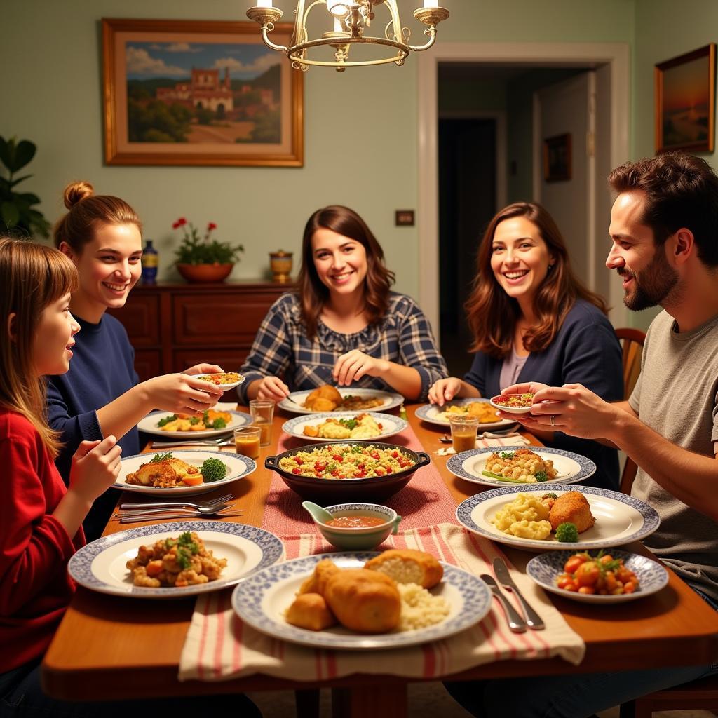
<svg viewBox="0 0 718 718">
<path fill-rule="evenodd" d="M 424 450 L 431 454 L 457 504 L 481 490 L 482 486 L 452 475 L 446 467 L 447 459 L 435 454 L 444 445 L 439 443 L 439 437 L 445 429 L 417 418 L 416 405 L 408 405 L 406 409 L 409 424 Z M 232 491 L 232 505 L 241 508 L 243 514 L 224 521 L 261 526 L 271 482 L 271 472 L 264 468 L 264 459 L 276 453 L 281 425 L 288 418 L 289 414 L 276 412 L 272 442 L 261 449 L 256 472 L 221 490 L 202 495 L 202 498 L 211 498 L 228 493 L 226 489 Z M 529 438 L 533 444 L 540 443 Z M 127 496 L 123 498 L 126 500 Z M 138 525 L 141 524 L 133 524 Z M 106 534 L 124 528 L 126 526 L 113 518 Z M 503 548 L 519 569 L 523 569 L 533 555 Z M 640 544 L 630 544 L 628 549 L 648 554 Z M 657 594 L 620 605 L 597 606 L 550 596 L 586 644 L 585 657 L 579 666 L 557 657 L 494 661 L 450 678 L 493 679 L 709 663 L 718 655 L 718 614 L 670 569 L 668 576 L 668 586 Z M 58 699 L 91 701 L 328 687 L 333 691 L 332 706 L 337 716 L 406 716 L 406 685 L 421 679 L 362 673 L 307 684 L 256 674 L 228 681 L 180 682 L 177 679 L 180 653 L 194 603 L 193 598 L 139 600 L 78 587 L 42 662 L 45 690 Z"/>
</svg>

